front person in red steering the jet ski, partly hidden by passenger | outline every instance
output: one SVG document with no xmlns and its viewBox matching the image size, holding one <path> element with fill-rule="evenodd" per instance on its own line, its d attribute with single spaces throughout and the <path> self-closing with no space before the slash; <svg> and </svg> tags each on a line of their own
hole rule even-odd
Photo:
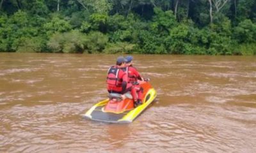
<svg viewBox="0 0 256 153">
<path fill-rule="evenodd" d="M 127 66 L 127 72 L 128 72 L 128 82 L 132 84 L 132 89 L 135 89 L 135 91 L 138 94 L 138 101 L 136 101 L 135 105 L 141 105 L 141 98 L 143 96 L 143 89 L 140 87 L 138 84 L 138 80 L 142 80 L 143 78 L 141 77 L 140 73 L 137 71 L 136 68 L 132 66 L 132 59 L 133 57 L 131 55 L 128 55 L 125 57 L 127 60 L 126 66 Z"/>
</svg>

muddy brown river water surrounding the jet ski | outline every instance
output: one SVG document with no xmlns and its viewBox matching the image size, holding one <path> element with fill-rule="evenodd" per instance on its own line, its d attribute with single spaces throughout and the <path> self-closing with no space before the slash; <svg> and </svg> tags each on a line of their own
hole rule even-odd
<svg viewBox="0 0 256 153">
<path fill-rule="evenodd" d="M 81 115 L 118 55 L 0 54 L 0 152 L 255 152 L 256 57 L 134 55 L 157 91 L 131 124 Z"/>
</svg>

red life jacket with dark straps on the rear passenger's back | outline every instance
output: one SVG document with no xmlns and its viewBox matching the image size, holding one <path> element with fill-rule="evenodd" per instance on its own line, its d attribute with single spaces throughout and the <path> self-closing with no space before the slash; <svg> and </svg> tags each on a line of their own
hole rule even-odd
<svg viewBox="0 0 256 153">
<path fill-rule="evenodd" d="M 107 77 L 107 84 L 110 87 L 121 87 L 122 86 L 122 76 L 118 75 L 122 69 L 111 66 L 108 69 L 108 77 Z"/>
</svg>

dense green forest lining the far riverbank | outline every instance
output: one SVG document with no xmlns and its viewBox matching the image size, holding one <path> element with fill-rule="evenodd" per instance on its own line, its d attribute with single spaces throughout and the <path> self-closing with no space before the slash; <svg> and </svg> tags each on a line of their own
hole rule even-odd
<svg viewBox="0 0 256 153">
<path fill-rule="evenodd" d="M 256 55 L 256 1 L 0 0 L 0 52 Z"/>
</svg>

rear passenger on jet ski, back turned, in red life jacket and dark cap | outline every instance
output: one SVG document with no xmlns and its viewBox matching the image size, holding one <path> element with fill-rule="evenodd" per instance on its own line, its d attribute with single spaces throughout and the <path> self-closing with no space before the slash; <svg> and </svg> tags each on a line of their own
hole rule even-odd
<svg viewBox="0 0 256 153">
<path fill-rule="evenodd" d="M 124 57 L 118 57 L 116 60 L 116 66 L 111 66 L 108 69 L 108 92 L 125 94 L 125 92 L 131 91 L 133 101 L 137 101 L 136 90 L 132 88 L 133 86 L 131 83 L 128 83 L 125 62 L 126 59 Z M 122 95 L 122 98 L 125 98 L 125 96 Z"/>
</svg>

